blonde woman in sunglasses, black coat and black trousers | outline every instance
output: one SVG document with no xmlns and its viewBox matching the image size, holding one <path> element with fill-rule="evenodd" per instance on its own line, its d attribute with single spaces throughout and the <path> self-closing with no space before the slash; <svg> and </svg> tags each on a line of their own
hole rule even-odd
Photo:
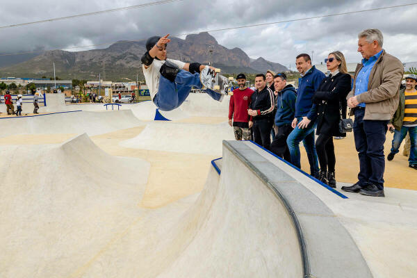
<svg viewBox="0 0 417 278">
<path fill-rule="evenodd" d="M 330 74 L 322 80 L 313 96 L 313 102 L 318 106 L 316 150 L 320 181 L 336 188 L 333 136 L 346 136 L 339 132 L 338 122 L 343 102 L 346 102 L 351 88 L 352 76 L 347 73 L 345 56 L 341 51 L 330 53 L 325 63 Z"/>
</svg>

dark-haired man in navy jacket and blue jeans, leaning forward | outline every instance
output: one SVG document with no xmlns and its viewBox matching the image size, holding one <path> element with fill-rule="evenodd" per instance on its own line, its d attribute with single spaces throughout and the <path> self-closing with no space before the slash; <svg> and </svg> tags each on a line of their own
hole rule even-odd
<svg viewBox="0 0 417 278">
<path fill-rule="evenodd" d="M 317 115 L 316 104 L 313 104 L 312 98 L 325 74 L 311 66 L 309 54 L 298 55 L 295 64 L 301 78 L 298 81 L 295 117 L 291 123 L 294 130 L 287 138 L 288 149 L 290 149 L 291 163 L 301 168 L 300 142 L 302 141 L 309 158 L 310 174 L 318 177 L 318 158 L 314 142 Z"/>
</svg>

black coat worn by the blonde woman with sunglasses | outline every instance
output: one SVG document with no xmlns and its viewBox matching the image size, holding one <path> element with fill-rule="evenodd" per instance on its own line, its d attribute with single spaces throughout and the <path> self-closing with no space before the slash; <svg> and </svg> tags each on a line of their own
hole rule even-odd
<svg viewBox="0 0 417 278">
<path fill-rule="evenodd" d="M 338 131 L 341 119 L 340 109 L 346 102 L 346 96 L 352 89 L 352 76 L 339 72 L 322 80 L 314 93 L 313 102 L 317 106 L 317 134 L 328 136 L 346 136 Z"/>
</svg>

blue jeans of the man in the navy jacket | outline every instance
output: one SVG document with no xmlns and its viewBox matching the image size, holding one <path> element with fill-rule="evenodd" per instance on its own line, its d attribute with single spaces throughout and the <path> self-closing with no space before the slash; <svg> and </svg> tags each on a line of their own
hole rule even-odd
<svg viewBox="0 0 417 278">
<path fill-rule="evenodd" d="M 302 117 L 298 118 L 298 122 L 301 120 Z M 315 129 L 315 124 L 311 124 L 311 127 L 306 129 L 300 129 L 298 126 L 295 126 L 295 129 L 291 131 L 287 138 L 287 145 L 291 154 L 291 163 L 293 163 L 294 166 L 301 168 L 300 142 L 302 141 L 304 148 L 306 149 L 307 158 L 309 158 L 310 174 L 313 177 L 318 177 L 318 158 L 316 144 L 314 142 Z"/>
</svg>

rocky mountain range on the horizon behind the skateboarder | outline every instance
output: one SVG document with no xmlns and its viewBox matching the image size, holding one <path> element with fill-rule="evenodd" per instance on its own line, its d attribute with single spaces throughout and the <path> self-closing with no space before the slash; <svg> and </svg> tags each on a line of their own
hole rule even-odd
<svg viewBox="0 0 417 278">
<path fill-rule="evenodd" d="M 211 51 L 209 51 L 211 50 Z M 264 58 L 251 59 L 245 51 L 235 47 L 227 49 L 215 38 L 206 33 L 187 35 L 185 40 L 171 38 L 168 44 L 168 58 L 183 62 L 198 62 L 220 67 L 222 72 L 234 74 L 238 72 L 257 73 L 272 70 L 284 72 L 284 65 L 272 63 Z M 19 57 L 13 64 L 13 56 L 0 60 L 0 76 L 42 77 L 56 76 L 60 79 L 101 79 L 112 81 L 143 80 L 140 58 L 145 53 L 145 40 L 120 41 L 106 49 L 70 52 L 63 50 L 45 51 L 33 55 Z"/>
</svg>

